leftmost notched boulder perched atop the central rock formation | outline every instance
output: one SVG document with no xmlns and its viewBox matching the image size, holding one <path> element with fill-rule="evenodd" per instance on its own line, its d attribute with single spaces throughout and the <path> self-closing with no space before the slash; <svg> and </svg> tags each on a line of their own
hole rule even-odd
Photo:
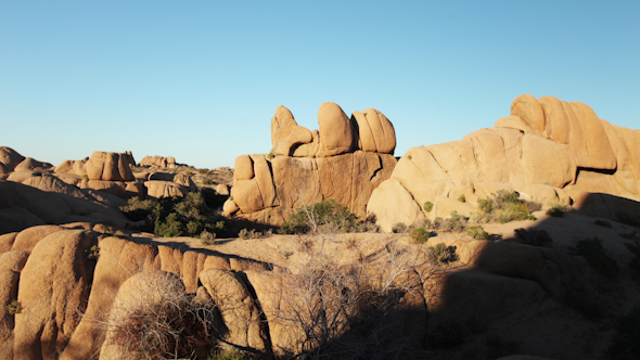
<svg viewBox="0 0 640 360">
<path fill-rule="evenodd" d="M 271 118 L 271 143 L 273 145 L 271 153 L 291 156 L 297 146 L 310 143 L 311 140 L 311 131 L 298 126 L 289 108 L 282 105 L 278 106 L 276 116 Z"/>
</svg>

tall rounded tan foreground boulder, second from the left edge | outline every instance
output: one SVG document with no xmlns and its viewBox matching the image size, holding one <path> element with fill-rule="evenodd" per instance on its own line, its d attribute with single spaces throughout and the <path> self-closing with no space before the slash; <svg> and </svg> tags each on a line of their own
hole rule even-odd
<svg viewBox="0 0 640 360">
<path fill-rule="evenodd" d="M 33 249 L 21 274 L 14 359 L 57 359 L 79 322 L 89 297 L 92 265 L 85 252 L 95 233 L 66 230 Z"/>
</svg>

